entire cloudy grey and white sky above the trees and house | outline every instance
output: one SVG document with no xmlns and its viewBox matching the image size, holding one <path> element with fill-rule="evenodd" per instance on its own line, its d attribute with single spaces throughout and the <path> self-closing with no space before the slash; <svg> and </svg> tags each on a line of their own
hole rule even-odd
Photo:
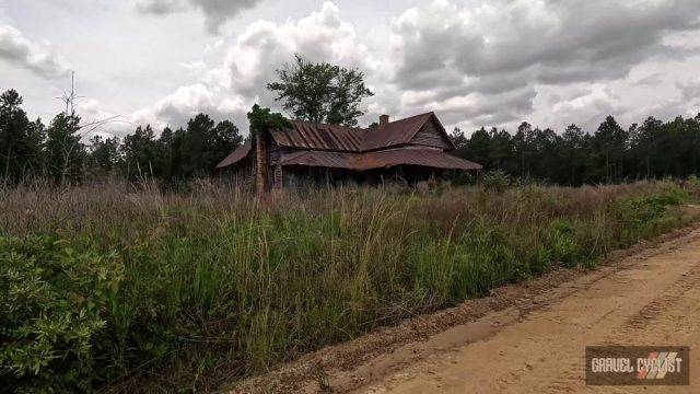
<svg viewBox="0 0 700 394">
<path fill-rule="evenodd" d="M 359 68 L 368 125 L 434 111 L 448 129 L 523 120 L 593 130 L 700 111 L 698 0 L 0 0 L 0 90 L 32 117 L 78 106 L 103 130 L 198 112 L 247 129 L 299 53 Z"/>
</svg>

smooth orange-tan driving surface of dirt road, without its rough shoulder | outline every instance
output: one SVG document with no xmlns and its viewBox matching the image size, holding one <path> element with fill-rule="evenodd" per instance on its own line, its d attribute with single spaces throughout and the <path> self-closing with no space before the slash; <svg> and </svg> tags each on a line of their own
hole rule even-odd
<svg viewBox="0 0 700 394">
<path fill-rule="evenodd" d="M 442 348 L 375 382 L 370 393 L 640 392 L 584 385 L 586 345 L 687 345 L 690 386 L 644 392 L 700 393 L 700 239 L 698 232 L 585 275 L 551 291 L 524 318 L 488 314 L 428 340 Z M 600 275 L 607 274 L 607 275 Z M 462 343 L 462 344 L 459 344 Z M 375 372 L 381 374 L 381 371 Z M 370 379 L 371 381 L 371 379 Z"/>
</svg>

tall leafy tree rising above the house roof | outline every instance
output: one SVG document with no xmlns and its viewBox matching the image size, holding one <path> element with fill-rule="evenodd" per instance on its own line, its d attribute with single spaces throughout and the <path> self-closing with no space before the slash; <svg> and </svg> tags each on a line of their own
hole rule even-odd
<svg viewBox="0 0 700 394">
<path fill-rule="evenodd" d="M 299 55 L 292 65 L 277 70 L 279 82 L 267 88 L 294 118 L 330 125 L 357 126 L 360 102 L 373 93 L 364 85 L 364 76 L 327 62 L 312 63 Z"/>
</svg>

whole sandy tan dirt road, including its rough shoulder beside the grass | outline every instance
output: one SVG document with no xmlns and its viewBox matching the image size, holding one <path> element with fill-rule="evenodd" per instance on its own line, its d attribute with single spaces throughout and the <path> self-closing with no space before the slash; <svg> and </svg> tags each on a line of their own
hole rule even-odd
<svg viewBox="0 0 700 394">
<path fill-rule="evenodd" d="M 690 346 L 690 386 L 586 386 L 587 345 Z M 700 393 L 700 229 L 308 355 L 233 392 Z"/>
</svg>

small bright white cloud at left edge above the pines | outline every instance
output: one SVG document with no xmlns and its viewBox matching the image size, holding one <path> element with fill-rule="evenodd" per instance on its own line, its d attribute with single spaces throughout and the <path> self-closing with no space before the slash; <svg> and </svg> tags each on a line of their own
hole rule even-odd
<svg viewBox="0 0 700 394">
<path fill-rule="evenodd" d="M 65 77 L 69 71 L 68 62 L 49 44 L 31 42 L 10 25 L 0 25 L 0 59 L 47 79 Z"/>
</svg>

